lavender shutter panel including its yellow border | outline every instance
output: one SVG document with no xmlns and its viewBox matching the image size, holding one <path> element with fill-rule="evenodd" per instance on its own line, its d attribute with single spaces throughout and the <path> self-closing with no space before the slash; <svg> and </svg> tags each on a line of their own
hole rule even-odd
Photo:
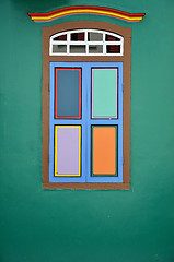
<svg viewBox="0 0 174 262">
<path fill-rule="evenodd" d="M 81 127 L 55 127 L 55 176 L 81 176 Z"/>
</svg>

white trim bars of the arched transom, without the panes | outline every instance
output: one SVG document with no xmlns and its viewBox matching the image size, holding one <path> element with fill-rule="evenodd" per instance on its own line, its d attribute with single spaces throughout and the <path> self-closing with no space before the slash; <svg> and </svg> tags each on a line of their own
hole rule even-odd
<svg viewBox="0 0 174 262">
<path fill-rule="evenodd" d="M 84 40 L 77 40 L 77 41 L 71 41 L 70 40 L 70 34 L 73 33 L 84 33 Z M 88 40 L 88 33 L 98 33 L 103 34 L 103 40 L 95 40 L 95 41 L 90 41 Z M 54 40 L 54 38 L 58 36 L 67 35 L 67 40 Z M 119 38 L 117 41 L 106 41 L 106 35 L 111 35 L 114 37 Z M 54 52 L 53 51 L 53 46 L 54 45 L 63 45 L 67 46 L 67 52 Z M 93 52 L 89 53 L 89 46 L 101 46 L 103 45 L 103 52 Z M 106 53 L 106 46 L 112 45 L 112 46 L 120 46 L 120 52 L 118 53 Z M 85 46 L 85 53 L 70 53 L 70 46 Z M 67 32 L 61 32 L 53 35 L 49 39 L 49 56 L 124 56 L 124 37 L 107 31 L 98 31 L 98 29 L 76 29 L 76 31 L 67 31 Z"/>
</svg>

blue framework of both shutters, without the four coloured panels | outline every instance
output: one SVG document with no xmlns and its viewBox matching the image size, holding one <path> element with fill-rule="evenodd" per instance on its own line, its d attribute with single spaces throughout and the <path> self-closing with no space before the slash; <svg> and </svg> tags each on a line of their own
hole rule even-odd
<svg viewBox="0 0 174 262">
<path fill-rule="evenodd" d="M 56 69 L 81 70 L 81 118 L 55 118 Z M 117 112 L 112 118 L 92 118 L 92 70 L 117 70 Z M 71 94 L 72 96 L 72 94 Z M 73 97 L 72 97 L 73 99 Z M 55 176 L 55 127 L 81 126 L 80 176 Z M 92 128 L 117 128 L 117 176 L 92 176 Z M 123 62 L 49 62 L 49 182 L 123 182 Z"/>
</svg>

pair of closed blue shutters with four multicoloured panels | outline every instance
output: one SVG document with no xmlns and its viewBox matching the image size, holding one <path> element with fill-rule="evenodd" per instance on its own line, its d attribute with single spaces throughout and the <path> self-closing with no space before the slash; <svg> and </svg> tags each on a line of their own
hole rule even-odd
<svg viewBox="0 0 174 262">
<path fill-rule="evenodd" d="M 123 63 L 49 67 L 49 181 L 123 182 Z"/>
</svg>

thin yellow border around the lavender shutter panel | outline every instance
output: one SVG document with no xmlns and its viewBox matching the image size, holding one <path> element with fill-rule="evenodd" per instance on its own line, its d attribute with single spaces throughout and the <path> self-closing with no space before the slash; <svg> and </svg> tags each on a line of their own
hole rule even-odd
<svg viewBox="0 0 174 262">
<path fill-rule="evenodd" d="M 57 130 L 58 128 L 79 129 L 79 174 L 58 174 L 57 172 Z M 55 127 L 55 177 L 80 177 L 81 176 L 81 126 L 56 126 Z"/>
</svg>

